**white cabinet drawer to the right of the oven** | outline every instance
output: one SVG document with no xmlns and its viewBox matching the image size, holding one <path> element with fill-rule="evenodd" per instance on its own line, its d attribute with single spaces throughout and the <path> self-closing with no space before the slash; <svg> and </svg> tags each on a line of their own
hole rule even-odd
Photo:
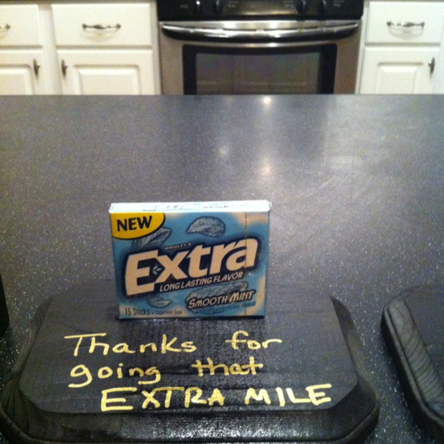
<svg viewBox="0 0 444 444">
<path fill-rule="evenodd" d="M 370 1 L 366 43 L 438 44 L 444 3 Z"/>
</svg>

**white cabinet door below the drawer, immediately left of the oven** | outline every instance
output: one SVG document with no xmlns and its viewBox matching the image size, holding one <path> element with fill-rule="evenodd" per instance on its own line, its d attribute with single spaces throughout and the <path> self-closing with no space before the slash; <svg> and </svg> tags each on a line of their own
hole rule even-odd
<svg viewBox="0 0 444 444">
<path fill-rule="evenodd" d="M 151 50 L 58 51 L 63 94 L 155 94 Z"/>
</svg>

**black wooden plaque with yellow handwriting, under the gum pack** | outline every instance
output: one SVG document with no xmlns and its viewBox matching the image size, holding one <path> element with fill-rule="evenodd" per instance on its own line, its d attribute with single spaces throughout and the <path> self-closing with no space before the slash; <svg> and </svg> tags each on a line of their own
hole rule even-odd
<svg viewBox="0 0 444 444">
<path fill-rule="evenodd" d="M 375 425 L 336 300 L 298 297 L 264 318 L 118 321 L 110 295 L 113 282 L 95 282 L 40 307 L 1 402 L 13 443 L 349 443 Z"/>
</svg>

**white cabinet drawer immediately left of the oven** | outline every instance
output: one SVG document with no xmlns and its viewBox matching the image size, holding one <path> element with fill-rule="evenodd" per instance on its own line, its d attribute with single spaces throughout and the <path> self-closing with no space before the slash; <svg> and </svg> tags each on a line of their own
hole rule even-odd
<svg viewBox="0 0 444 444">
<path fill-rule="evenodd" d="M 151 5 L 55 4 L 58 46 L 151 46 Z"/>
</svg>

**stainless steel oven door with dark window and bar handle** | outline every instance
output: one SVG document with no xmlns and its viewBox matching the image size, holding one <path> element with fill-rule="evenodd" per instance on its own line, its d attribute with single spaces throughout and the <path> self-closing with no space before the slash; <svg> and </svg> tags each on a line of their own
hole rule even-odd
<svg viewBox="0 0 444 444">
<path fill-rule="evenodd" d="M 354 93 L 360 21 L 161 22 L 164 94 Z"/>
</svg>

